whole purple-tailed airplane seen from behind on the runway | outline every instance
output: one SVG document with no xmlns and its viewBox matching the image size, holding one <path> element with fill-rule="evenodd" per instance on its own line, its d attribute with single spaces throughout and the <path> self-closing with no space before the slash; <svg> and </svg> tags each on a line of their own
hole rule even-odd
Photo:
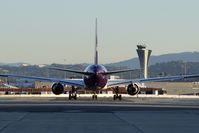
<svg viewBox="0 0 199 133">
<path fill-rule="evenodd" d="M 195 75 L 176 75 L 176 76 L 166 76 L 166 77 L 155 77 L 155 78 L 140 78 L 140 79 L 108 79 L 109 75 L 123 72 L 136 71 L 137 69 L 125 69 L 117 71 L 107 71 L 107 69 L 98 63 L 98 38 L 97 38 L 97 19 L 95 23 L 95 54 L 94 54 L 94 64 L 86 67 L 84 71 L 64 69 L 57 67 L 50 67 L 49 69 L 66 71 L 83 75 L 82 79 L 56 79 L 56 78 L 46 78 L 46 77 L 36 77 L 36 76 L 25 76 L 16 74 L 0 74 L 0 77 L 13 77 L 13 78 L 25 78 L 33 79 L 37 81 L 52 82 L 52 92 L 55 95 L 64 93 L 64 86 L 72 86 L 72 91 L 69 92 L 69 100 L 77 99 L 76 91 L 78 89 L 86 89 L 93 91 L 93 100 L 97 99 L 96 92 L 107 87 L 113 87 L 116 94 L 114 94 L 113 99 L 122 99 L 121 94 L 119 95 L 119 86 L 126 85 L 126 91 L 129 95 L 133 96 L 140 92 L 140 84 L 145 82 L 159 82 L 159 81 L 174 81 L 183 80 L 189 78 L 198 78 L 199 74 Z"/>
</svg>

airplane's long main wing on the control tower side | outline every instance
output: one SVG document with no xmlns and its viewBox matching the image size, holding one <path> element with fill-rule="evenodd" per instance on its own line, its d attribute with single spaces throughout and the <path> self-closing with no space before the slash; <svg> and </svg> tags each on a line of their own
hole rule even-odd
<svg viewBox="0 0 199 133">
<path fill-rule="evenodd" d="M 146 83 L 146 82 L 160 82 L 160 81 L 175 81 L 175 80 L 184 80 L 191 78 L 199 78 L 199 74 L 195 75 L 178 75 L 178 76 L 166 76 L 166 77 L 155 77 L 155 78 L 146 78 L 146 79 L 118 79 L 118 80 L 109 80 L 107 86 L 114 87 L 119 85 L 127 85 L 132 83 Z"/>
</svg>

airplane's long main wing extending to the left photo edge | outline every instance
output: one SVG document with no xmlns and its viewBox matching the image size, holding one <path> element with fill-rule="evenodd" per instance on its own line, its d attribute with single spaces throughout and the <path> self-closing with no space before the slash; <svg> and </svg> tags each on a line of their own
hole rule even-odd
<svg viewBox="0 0 199 133">
<path fill-rule="evenodd" d="M 0 74 L 0 77 L 10 77 L 10 78 L 23 78 L 23 79 L 32 79 L 37 81 L 45 82 L 56 82 L 62 83 L 65 85 L 84 87 L 83 79 L 56 79 L 56 78 L 45 78 L 45 77 L 36 77 L 36 76 L 24 76 L 24 75 L 15 75 L 15 74 Z"/>
</svg>

